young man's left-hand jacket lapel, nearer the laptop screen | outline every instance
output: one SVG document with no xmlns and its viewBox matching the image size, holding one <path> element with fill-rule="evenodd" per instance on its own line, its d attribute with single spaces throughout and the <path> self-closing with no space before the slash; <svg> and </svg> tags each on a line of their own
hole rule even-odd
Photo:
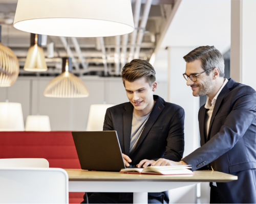
<svg viewBox="0 0 256 204">
<path fill-rule="evenodd" d="M 125 107 L 125 111 L 123 112 L 123 142 L 124 142 L 123 153 L 127 156 L 130 156 L 132 121 L 133 121 L 133 105 L 130 103 Z"/>
</svg>

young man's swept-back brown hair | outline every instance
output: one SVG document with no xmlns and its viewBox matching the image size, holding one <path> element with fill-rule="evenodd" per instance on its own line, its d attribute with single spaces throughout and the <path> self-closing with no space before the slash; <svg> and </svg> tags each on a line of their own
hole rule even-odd
<svg viewBox="0 0 256 204">
<path fill-rule="evenodd" d="M 123 85 L 125 80 L 134 82 L 143 77 L 150 85 L 156 81 L 156 71 L 146 60 L 135 59 L 124 65 L 122 69 Z"/>
</svg>

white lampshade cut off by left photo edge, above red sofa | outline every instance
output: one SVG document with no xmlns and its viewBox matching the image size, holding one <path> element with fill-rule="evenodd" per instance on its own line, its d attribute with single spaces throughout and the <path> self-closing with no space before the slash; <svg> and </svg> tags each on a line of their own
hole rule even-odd
<svg viewBox="0 0 256 204">
<path fill-rule="evenodd" d="M 0 131 L 24 131 L 21 104 L 0 103 Z"/>
</svg>

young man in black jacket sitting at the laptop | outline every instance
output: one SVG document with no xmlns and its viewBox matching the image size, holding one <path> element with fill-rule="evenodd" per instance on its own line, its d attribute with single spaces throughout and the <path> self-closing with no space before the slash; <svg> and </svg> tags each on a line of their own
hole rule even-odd
<svg viewBox="0 0 256 204">
<path fill-rule="evenodd" d="M 127 167 L 146 167 L 159 158 L 178 162 L 183 156 L 184 110 L 153 95 L 155 74 L 145 60 L 125 64 L 122 80 L 130 102 L 106 110 L 103 131 L 117 131 Z M 133 193 L 93 193 L 89 203 L 133 203 Z M 167 204 L 168 193 L 148 193 L 148 203 Z"/>
</svg>

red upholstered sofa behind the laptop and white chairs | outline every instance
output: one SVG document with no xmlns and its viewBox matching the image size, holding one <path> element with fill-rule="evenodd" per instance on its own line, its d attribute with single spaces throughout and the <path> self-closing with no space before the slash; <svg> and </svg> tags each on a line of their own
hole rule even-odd
<svg viewBox="0 0 256 204">
<path fill-rule="evenodd" d="M 50 168 L 81 168 L 68 131 L 0 132 L 0 159 L 7 158 L 45 158 Z M 69 203 L 80 203 L 83 194 L 69 193 Z"/>
</svg>

